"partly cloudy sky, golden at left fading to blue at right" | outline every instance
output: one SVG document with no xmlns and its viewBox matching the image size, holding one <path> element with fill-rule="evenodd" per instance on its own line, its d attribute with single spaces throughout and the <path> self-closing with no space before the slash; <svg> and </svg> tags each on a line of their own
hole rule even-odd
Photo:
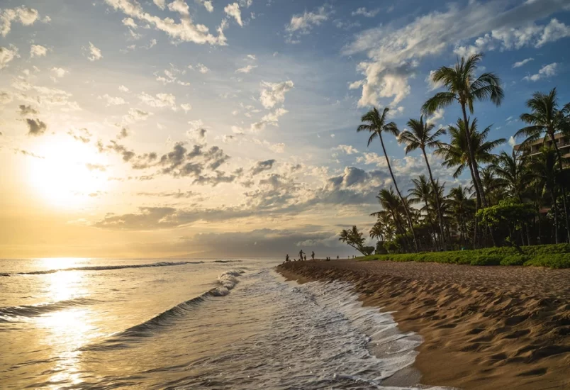
<svg viewBox="0 0 570 390">
<path fill-rule="evenodd" d="M 391 185 L 360 116 L 405 129 L 483 52 L 505 100 L 474 116 L 511 150 L 533 92 L 570 101 L 569 37 L 570 0 L 1 1 L 0 257 L 353 255 Z M 406 192 L 423 157 L 385 142 Z"/>
</svg>

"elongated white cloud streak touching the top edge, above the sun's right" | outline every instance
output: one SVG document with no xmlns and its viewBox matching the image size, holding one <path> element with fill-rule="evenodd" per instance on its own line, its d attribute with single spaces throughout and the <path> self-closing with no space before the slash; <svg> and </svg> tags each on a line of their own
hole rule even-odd
<svg viewBox="0 0 570 390">
<path fill-rule="evenodd" d="M 138 1 L 135 0 L 105 0 L 106 4 L 112 6 L 113 9 L 122 11 L 126 16 L 133 19 L 147 23 L 149 26 L 154 27 L 169 35 L 174 42 L 193 42 L 200 45 L 225 45 L 225 35 L 223 35 L 224 23 L 220 24 L 218 28 L 218 36 L 212 35 L 209 29 L 203 24 L 194 24 L 188 14 L 180 13 L 180 23 L 176 23 L 172 18 L 160 18 L 159 16 L 152 15 L 143 9 Z M 183 1 L 174 1 L 174 3 L 181 3 Z M 155 0 L 155 4 L 164 9 L 166 1 Z M 170 7 L 169 7 L 170 8 Z M 177 11 L 184 12 L 184 6 L 173 6 Z"/>
</svg>

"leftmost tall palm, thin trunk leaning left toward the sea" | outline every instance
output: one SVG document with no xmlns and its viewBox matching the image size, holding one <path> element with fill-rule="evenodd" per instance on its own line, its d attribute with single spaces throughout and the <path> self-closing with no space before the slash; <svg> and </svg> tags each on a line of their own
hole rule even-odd
<svg viewBox="0 0 570 390">
<path fill-rule="evenodd" d="M 396 193 L 398 194 L 400 200 L 402 201 L 402 204 L 404 206 L 404 211 L 406 211 L 406 218 L 408 219 L 408 225 L 410 226 L 410 231 L 412 232 L 415 250 L 417 251 L 418 243 L 415 239 L 415 230 L 413 228 L 413 222 L 410 216 L 410 210 L 408 209 L 406 202 L 404 202 L 403 196 L 400 190 L 398 189 L 398 184 L 396 183 L 396 177 L 394 177 L 394 174 L 392 172 L 390 160 L 388 158 L 388 154 L 386 153 L 386 147 L 384 147 L 384 140 L 382 139 L 382 133 L 390 133 L 392 135 L 395 135 L 396 137 L 398 137 L 399 133 L 398 126 L 396 126 L 396 123 L 393 122 L 386 123 L 387 119 L 386 114 L 388 113 L 388 111 L 389 108 L 384 108 L 384 111 L 382 111 L 382 114 L 380 114 L 376 107 L 372 108 L 370 111 L 368 111 L 362 116 L 361 121 L 363 123 L 362 125 L 358 126 L 357 132 L 368 131 L 370 133 L 370 137 L 368 139 L 368 146 L 370 146 L 371 142 L 375 138 L 380 139 L 380 144 L 382 145 L 382 151 L 384 152 L 384 157 L 386 158 L 386 164 L 388 165 L 388 170 L 390 172 L 394 188 L 396 189 Z"/>
</svg>

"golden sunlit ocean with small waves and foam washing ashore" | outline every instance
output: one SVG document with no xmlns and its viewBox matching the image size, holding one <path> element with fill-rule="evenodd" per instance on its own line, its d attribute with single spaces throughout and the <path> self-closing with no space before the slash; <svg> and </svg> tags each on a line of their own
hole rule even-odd
<svg viewBox="0 0 570 390">
<path fill-rule="evenodd" d="M 0 388 L 428 388 L 418 335 L 279 262 L 0 260 Z"/>
</svg>

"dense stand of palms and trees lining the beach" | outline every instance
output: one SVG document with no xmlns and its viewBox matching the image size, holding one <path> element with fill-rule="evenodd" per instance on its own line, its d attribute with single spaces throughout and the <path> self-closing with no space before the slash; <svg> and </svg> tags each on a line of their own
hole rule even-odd
<svg viewBox="0 0 570 390">
<path fill-rule="evenodd" d="M 420 252 L 510 245 L 520 250 L 522 245 L 570 243 L 570 169 L 558 143 L 570 138 L 570 104 L 559 105 L 555 88 L 535 92 L 526 102 L 528 112 L 520 116 L 525 127 L 515 133 L 520 147 L 495 154 L 493 150 L 507 141 L 489 139 L 491 126 L 479 126 L 474 108 L 481 101 L 500 106 L 505 94 L 497 74 L 476 76 L 481 58 L 462 57 L 454 67 L 437 69 L 432 82 L 445 91 L 428 99 L 420 118 L 410 119 L 406 130 L 389 121 L 389 108 L 374 107 L 362 116 L 357 132 L 369 134 L 368 145 L 379 140 L 392 184 L 379 191 L 381 210 L 371 214 L 376 223 L 369 235 L 377 240 L 376 248 L 364 246 L 364 233 L 356 226 L 342 230 L 342 242 L 364 255 L 374 249 Z M 457 123 L 436 129 L 427 120 L 452 105 L 461 108 Z M 446 134 L 447 143 L 441 140 Z M 406 155 L 420 150 L 425 160 L 427 177 L 412 179 L 408 194 L 402 193 L 393 174 L 384 145 L 389 135 L 406 146 Z M 531 152 L 531 147 L 539 150 Z M 430 153 L 454 169 L 454 178 L 469 172 L 470 184 L 446 191 L 446 183 L 433 175 Z"/>
</svg>

